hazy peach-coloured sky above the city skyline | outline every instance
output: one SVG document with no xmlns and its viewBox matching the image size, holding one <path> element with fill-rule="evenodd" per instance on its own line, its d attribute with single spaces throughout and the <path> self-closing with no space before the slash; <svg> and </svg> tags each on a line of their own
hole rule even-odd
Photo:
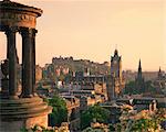
<svg viewBox="0 0 166 132">
<path fill-rule="evenodd" d="M 18 1 L 43 10 L 37 25 L 37 64 L 60 55 L 110 62 L 117 44 L 123 69 L 137 69 L 141 58 L 143 70 L 166 70 L 166 0 Z M 17 38 L 21 55 L 21 36 Z M 2 59 L 3 33 L 0 40 Z"/>
</svg>

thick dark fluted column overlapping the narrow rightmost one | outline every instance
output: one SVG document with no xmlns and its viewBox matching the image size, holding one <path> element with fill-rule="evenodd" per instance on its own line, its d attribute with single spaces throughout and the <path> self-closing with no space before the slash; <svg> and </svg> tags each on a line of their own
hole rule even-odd
<svg viewBox="0 0 166 132">
<path fill-rule="evenodd" d="M 32 30 L 21 29 L 22 35 L 22 94 L 21 97 L 32 97 Z"/>
</svg>

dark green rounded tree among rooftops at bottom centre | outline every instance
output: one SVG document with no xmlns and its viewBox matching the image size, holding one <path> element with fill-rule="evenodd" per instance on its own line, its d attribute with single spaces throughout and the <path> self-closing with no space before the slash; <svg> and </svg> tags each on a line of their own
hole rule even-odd
<svg viewBox="0 0 166 132">
<path fill-rule="evenodd" d="M 84 129 L 90 127 L 90 123 L 93 122 L 93 120 L 96 120 L 100 123 L 108 123 L 108 119 L 110 111 L 95 105 L 81 113 L 81 128 Z"/>
</svg>

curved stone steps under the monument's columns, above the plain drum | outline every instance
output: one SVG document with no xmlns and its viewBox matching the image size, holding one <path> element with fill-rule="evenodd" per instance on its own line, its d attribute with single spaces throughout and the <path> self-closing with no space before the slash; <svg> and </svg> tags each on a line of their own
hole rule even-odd
<svg viewBox="0 0 166 132">
<path fill-rule="evenodd" d="M 0 117 L 2 120 L 20 120 L 31 117 L 44 116 L 51 112 L 52 108 L 39 97 L 21 99 L 1 99 Z"/>
</svg>

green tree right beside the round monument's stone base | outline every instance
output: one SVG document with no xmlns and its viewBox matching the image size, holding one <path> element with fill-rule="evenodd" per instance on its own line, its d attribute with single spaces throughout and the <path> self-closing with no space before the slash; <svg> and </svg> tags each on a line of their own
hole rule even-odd
<svg viewBox="0 0 166 132">
<path fill-rule="evenodd" d="M 54 96 L 52 99 L 46 100 L 53 107 L 52 113 L 49 116 L 50 125 L 60 127 L 62 122 L 68 121 L 68 109 L 63 98 Z"/>
</svg>

